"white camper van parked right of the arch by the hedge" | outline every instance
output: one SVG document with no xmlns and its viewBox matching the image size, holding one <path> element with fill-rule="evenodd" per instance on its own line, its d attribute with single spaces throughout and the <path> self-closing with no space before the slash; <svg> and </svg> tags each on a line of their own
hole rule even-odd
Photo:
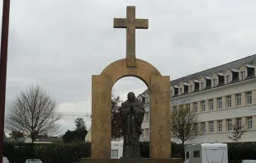
<svg viewBox="0 0 256 163">
<path fill-rule="evenodd" d="M 185 146 L 184 163 L 228 163 L 228 146 L 225 143 L 203 143 Z"/>
</svg>

